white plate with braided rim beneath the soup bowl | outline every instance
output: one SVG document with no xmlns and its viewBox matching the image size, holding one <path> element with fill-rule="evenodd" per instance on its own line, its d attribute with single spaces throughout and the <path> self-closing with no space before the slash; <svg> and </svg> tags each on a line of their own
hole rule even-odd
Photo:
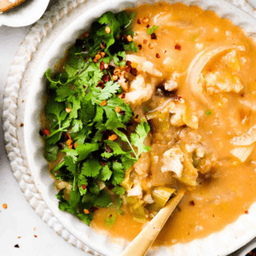
<svg viewBox="0 0 256 256">
<path fill-rule="evenodd" d="M 127 2 L 136 2 L 137 0 L 128 0 Z M 93 2 L 93 3 L 92 3 Z M 120 4 L 120 2 L 125 1 L 119 1 L 119 0 L 113 0 L 113 1 L 104 1 L 104 3 L 117 3 Z M 145 2 L 145 1 L 143 1 Z M 148 2 L 148 1 L 147 1 Z M 149 2 L 154 2 L 153 0 Z M 185 2 L 185 3 L 196 3 L 201 7 L 199 3 L 212 3 L 213 0 L 201 0 L 197 2 L 193 2 L 191 0 L 183 0 L 183 1 L 175 1 L 172 0 L 172 3 L 176 2 Z M 15 56 L 15 60 L 10 67 L 9 72 L 9 79 L 8 83 L 5 87 L 4 92 L 4 101 L 3 101 L 3 130 L 4 130 L 4 138 L 6 142 L 6 150 L 9 155 L 9 159 L 11 161 L 12 170 L 15 174 L 15 177 L 20 183 L 21 190 L 25 192 L 27 201 L 30 202 L 32 207 L 36 208 L 36 211 L 39 213 L 39 215 L 46 221 L 50 226 L 54 228 L 56 232 L 59 233 L 59 235 L 66 238 L 69 242 L 73 243 L 76 247 L 81 247 L 86 252 L 92 253 L 93 255 L 99 255 L 96 254 L 93 250 L 90 249 L 90 247 L 94 247 L 95 250 L 100 251 L 101 253 L 104 253 L 101 248 L 96 247 L 96 243 L 92 244 L 90 242 L 86 242 L 86 244 L 89 244 L 90 247 L 87 247 L 76 239 L 73 235 L 71 235 L 58 221 L 58 217 L 56 217 L 56 214 L 52 214 L 49 209 L 52 209 L 51 207 L 48 207 L 46 203 L 44 202 L 44 195 L 42 191 L 40 190 L 42 187 L 40 187 L 40 183 L 38 183 L 37 179 L 34 180 L 35 173 L 32 173 L 28 166 L 32 166 L 31 160 L 26 157 L 26 155 L 30 155 L 30 149 L 27 148 L 29 145 L 25 143 L 27 141 L 27 134 L 26 131 L 28 130 L 28 127 L 26 124 L 29 124 L 31 120 L 27 116 L 27 104 L 22 104 L 23 99 L 29 101 L 29 94 L 28 94 L 28 87 L 33 84 L 32 81 L 32 71 L 35 71 L 33 69 L 32 64 L 30 63 L 38 61 L 38 57 L 40 56 L 38 54 L 38 51 L 42 51 L 45 49 L 45 47 L 48 45 L 45 41 L 45 36 L 48 34 L 48 37 L 50 34 L 55 33 L 55 28 L 59 27 L 66 27 L 65 29 L 70 29 L 71 24 L 74 24 L 75 22 L 78 22 L 78 17 L 72 16 L 72 10 L 76 9 L 77 6 L 80 4 L 84 4 L 83 9 L 86 9 L 90 7 L 91 9 L 96 8 L 98 3 L 102 4 L 102 1 L 86 1 L 86 0 L 80 0 L 80 1 L 73 1 L 73 5 L 70 6 L 70 1 L 65 0 L 62 1 L 62 3 L 56 5 L 51 11 L 49 11 L 47 14 L 45 14 L 44 18 L 38 22 L 36 26 L 32 27 L 32 31 L 29 32 L 29 34 L 26 36 L 26 39 L 24 41 L 24 44 L 20 45 L 20 48 L 18 50 L 18 53 Z M 226 3 L 224 0 L 218 1 L 218 3 Z M 80 6 L 81 7 L 81 6 Z M 207 8 L 206 6 L 204 6 Z M 209 6 L 208 6 L 209 7 Z M 211 9 L 216 11 L 216 6 L 210 6 Z M 215 8 L 215 9 L 214 9 Z M 231 7 L 230 7 L 231 8 Z M 89 8 L 88 8 L 89 9 Z M 113 8 L 107 8 L 107 9 L 113 9 Z M 232 7 L 231 9 L 236 9 L 235 7 Z M 79 17 L 81 15 L 84 15 L 82 11 L 77 11 L 79 13 Z M 217 9 L 218 12 L 218 9 Z M 238 9 L 236 9 L 236 12 L 240 13 L 241 15 L 244 15 L 243 12 Z M 73 12 L 74 13 L 74 12 Z M 56 16 L 57 14 L 57 16 Z M 67 16 L 68 15 L 68 16 Z M 99 16 L 99 15 L 96 15 Z M 70 18 L 72 17 L 72 18 Z M 230 17 L 229 17 L 230 18 Z M 233 17 L 234 18 L 234 17 Z M 231 17 L 230 20 L 233 19 Z M 65 19 L 66 20 L 72 20 L 72 22 L 66 26 L 65 25 Z M 243 27 L 245 30 L 248 29 L 246 23 L 242 23 L 241 27 Z M 254 36 L 252 34 L 252 31 L 249 32 L 250 36 Z M 253 29 L 253 32 L 256 32 L 256 26 Z M 55 36 L 55 35 L 54 35 Z M 35 42 L 34 39 L 38 38 L 38 40 Z M 74 39 L 74 38 L 73 38 Z M 56 40 L 56 39 L 55 39 Z M 55 40 L 51 42 L 54 44 Z M 44 46 L 40 46 L 40 44 L 44 44 Z M 38 49 L 36 49 L 38 47 Z M 67 48 L 66 48 L 67 49 Z M 24 63 L 20 63 L 20 55 L 25 59 Z M 30 60 L 30 56 L 33 55 L 32 60 Z M 35 62 L 39 63 L 39 62 Z M 34 64 L 35 64 L 34 63 Z M 53 62 L 51 62 L 53 64 Z M 17 72 L 18 67 L 18 72 Z M 30 80 L 27 80 L 29 78 Z M 21 84 L 21 88 L 19 90 L 19 87 Z M 26 112 L 26 113 L 25 113 Z M 31 116 L 30 116 L 31 117 Z M 20 124 L 21 122 L 24 122 L 24 128 L 21 128 Z M 24 131 L 23 131 L 24 130 Z M 35 139 L 35 134 L 32 134 L 32 139 Z M 26 152 L 24 149 L 26 148 Z M 21 153 L 20 149 L 23 151 Z M 41 152 L 42 153 L 42 152 Z M 32 176 L 31 176 L 32 175 Z M 46 201 L 49 205 L 49 201 Z M 256 212 L 256 211 L 255 211 Z M 55 217 L 54 217 L 55 216 Z M 66 215 L 67 217 L 67 215 Z M 73 221 L 69 218 L 70 221 Z M 54 224 L 50 224 L 51 222 L 54 222 Z M 61 218 L 61 223 L 63 223 Z M 77 224 L 77 223 L 76 223 Z M 64 223 L 64 226 L 66 224 Z M 68 229 L 69 230 L 69 229 Z M 72 232 L 73 233 L 73 232 Z M 76 234 L 77 235 L 77 234 Z M 92 236 L 90 234 L 90 236 Z M 211 235 L 212 236 L 212 235 Z M 255 236 L 255 231 L 254 235 Z M 77 236 L 79 237 L 79 236 Z M 79 237 L 80 238 L 80 237 Z M 235 251 L 238 247 L 241 247 L 243 244 L 245 244 L 247 241 L 251 240 L 253 237 L 250 237 L 250 239 L 245 239 L 241 241 L 239 244 L 237 244 L 236 247 L 233 247 L 231 251 Z M 105 241 L 107 242 L 107 241 Z M 199 246 L 197 244 L 196 246 Z M 178 246 L 177 246 L 178 247 Z M 228 251 L 228 253 L 231 253 L 231 251 Z M 107 253 L 107 255 L 110 255 Z M 113 255 L 113 254 L 111 254 Z M 202 254 L 201 254 L 202 255 Z M 212 254 L 213 255 L 213 254 Z M 215 254 L 214 254 L 215 255 Z"/>
</svg>

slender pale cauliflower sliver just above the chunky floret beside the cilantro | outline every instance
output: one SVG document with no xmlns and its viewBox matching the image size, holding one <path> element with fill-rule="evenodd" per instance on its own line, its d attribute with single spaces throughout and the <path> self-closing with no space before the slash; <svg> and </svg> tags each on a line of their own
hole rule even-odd
<svg viewBox="0 0 256 256">
<path fill-rule="evenodd" d="M 147 61 L 147 59 L 144 57 L 137 55 L 126 55 L 126 61 L 131 61 L 131 66 L 136 66 L 138 71 L 150 73 L 156 77 L 161 77 L 163 75 L 163 73 L 154 67 L 152 62 Z"/>
</svg>

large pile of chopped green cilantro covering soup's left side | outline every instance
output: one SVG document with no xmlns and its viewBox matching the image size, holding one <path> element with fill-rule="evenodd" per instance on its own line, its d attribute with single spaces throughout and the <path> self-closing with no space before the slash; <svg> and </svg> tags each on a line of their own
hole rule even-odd
<svg viewBox="0 0 256 256">
<path fill-rule="evenodd" d="M 64 189 L 56 195 L 59 208 L 88 225 L 96 208 L 109 207 L 113 200 L 121 207 L 125 189 L 119 184 L 125 170 L 150 149 L 143 143 L 149 131 L 144 120 L 135 133 L 126 136 L 132 110 L 117 96 L 122 93 L 120 84 L 102 66 L 111 60 L 125 66 L 125 51 L 137 51 L 133 42 L 124 39 L 133 35 L 130 28 L 133 18 L 134 14 L 127 15 L 125 11 L 105 13 L 92 24 L 90 35 L 78 39 L 68 50 L 65 72 L 53 75 L 49 69 L 45 73 L 48 95 L 45 114 L 50 128 L 44 134 L 44 157 L 53 161 L 59 151 L 65 153 L 52 171 L 55 179 L 72 186 L 69 198 L 64 196 Z M 101 59 L 96 59 L 96 55 Z M 130 149 L 124 150 L 109 140 L 110 134 L 117 135 Z M 115 198 L 108 193 L 110 190 Z M 113 221 L 109 218 L 107 223 Z"/>
</svg>

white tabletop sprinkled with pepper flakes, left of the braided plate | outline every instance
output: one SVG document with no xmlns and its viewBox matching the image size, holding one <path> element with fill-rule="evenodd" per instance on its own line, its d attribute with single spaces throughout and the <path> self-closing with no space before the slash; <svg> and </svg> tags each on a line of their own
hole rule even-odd
<svg viewBox="0 0 256 256">
<path fill-rule="evenodd" d="M 256 0 L 247 1 L 256 8 Z M 51 4 L 53 2 L 56 0 L 52 0 Z M 6 84 L 10 63 L 30 28 L 31 26 L 22 28 L 0 27 L 0 256 L 89 255 L 57 236 L 55 231 L 50 229 L 27 204 L 25 196 L 20 191 L 20 186 L 11 172 L 9 160 L 4 152 L 3 88 Z M 4 203 L 7 204 L 7 209 L 3 209 Z M 15 247 L 15 245 L 19 245 L 19 247 Z"/>
</svg>

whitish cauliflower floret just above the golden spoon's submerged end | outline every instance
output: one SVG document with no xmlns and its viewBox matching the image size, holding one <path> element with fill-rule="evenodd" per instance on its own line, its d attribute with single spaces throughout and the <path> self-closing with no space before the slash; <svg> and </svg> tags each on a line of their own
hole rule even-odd
<svg viewBox="0 0 256 256">
<path fill-rule="evenodd" d="M 184 155 L 180 148 L 171 148 L 163 154 L 161 172 L 175 172 L 177 177 L 183 174 Z"/>
</svg>

